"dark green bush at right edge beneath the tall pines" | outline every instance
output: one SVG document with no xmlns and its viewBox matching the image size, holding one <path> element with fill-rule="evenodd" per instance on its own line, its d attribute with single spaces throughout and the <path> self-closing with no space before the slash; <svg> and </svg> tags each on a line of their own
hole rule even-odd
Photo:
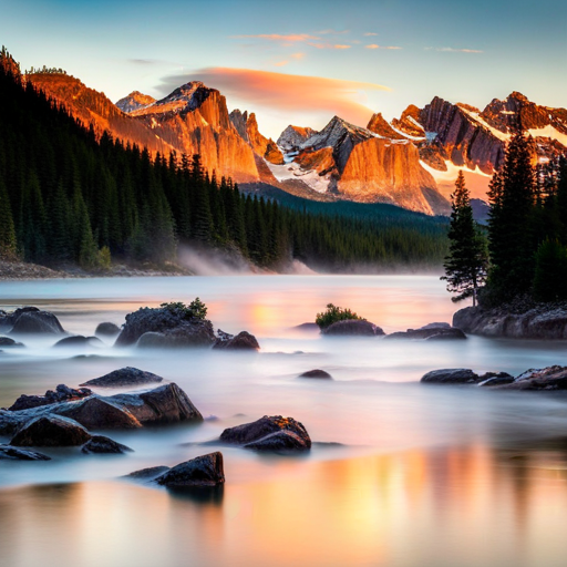
<svg viewBox="0 0 567 567">
<path fill-rule="evenodd" d="M 534 297 L 539 301 L 567 299 L 567 248 L 557 240 L 545 240 L 536 252 Z"/>
</svg>

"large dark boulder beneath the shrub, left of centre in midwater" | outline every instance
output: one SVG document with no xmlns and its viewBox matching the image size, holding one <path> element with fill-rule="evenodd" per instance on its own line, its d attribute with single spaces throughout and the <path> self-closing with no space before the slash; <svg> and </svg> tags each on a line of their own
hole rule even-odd
<svg viewBox="0 0 567 567">
<path fill-rule="evenodd" d="M 210 321 L 190 317 L 182 309 L 145 307 L 126 316 L 126 322 L 114 344 L 134 344 L 146 332 L 164 334 L 168 347 L 210 347 L 215 343 Z"/>
</svg>

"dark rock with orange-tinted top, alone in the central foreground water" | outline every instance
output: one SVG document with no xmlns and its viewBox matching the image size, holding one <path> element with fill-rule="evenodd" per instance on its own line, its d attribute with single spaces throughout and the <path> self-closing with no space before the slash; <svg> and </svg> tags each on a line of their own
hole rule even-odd
<svg viewBox="0 0 567 567">
<path fill-rule="evenodd" d="M 291 433 L 293 439 L 281 435 L 272 437 L 275 433 L 280 432 Z M 265 451 L 281 451 L 282 449 L 307 451 L 311 449 L 311 439 L 305 426 L 292 417 L 282 417 L 281 415 L 265 415 L 252 423 L 244 423 L 236 427 L 226 429 L 220 434 L 220 441 Z M 262 443 L 258 443 L 260 441 Z M 249 446 L 250 444 L 256 446 Z M 282 447 L 286 444 L 289 447 Z"/>
</svg>

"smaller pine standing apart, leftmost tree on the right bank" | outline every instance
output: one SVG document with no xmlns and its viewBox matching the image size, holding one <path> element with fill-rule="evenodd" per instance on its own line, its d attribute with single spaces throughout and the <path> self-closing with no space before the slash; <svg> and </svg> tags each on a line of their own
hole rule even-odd
<svg viewBox="0 0 567 567">
<path fill-rule="evenodd" d="M 441 279 L 447 281 L 447 291 L 458 293 L 452 298 L 453 301 L 472 297 L 473 306 L 476 306 L 478 288 L 486 279 L 487 251 L 485 238 L 473 219 L 462 171 L 458 172 L 451 198 L 453 212 L 447 235 L 451 244 L 443 264 L 445 276 Z"/>
</svg>

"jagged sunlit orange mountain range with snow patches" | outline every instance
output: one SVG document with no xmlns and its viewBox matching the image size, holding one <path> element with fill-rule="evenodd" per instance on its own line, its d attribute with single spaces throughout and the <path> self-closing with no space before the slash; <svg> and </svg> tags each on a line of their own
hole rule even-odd
<svg viewBox="0 0 567 567">
<path fill-rule="evenodd" d="M 154 155 L 198 153 L 217 177 L 260 194 L 277 187 L 313 200 L 386 203 L 447 215 L 458 169 L 472 196 L 486 198 L 515 125 L 534 136 L 540 162 L 567 151 L 567 110 L 537 105 L 517 92 L 483 111 L 434 97 L 391 122 L 377 113 L 365 127 L 339 116 L 320 132 L 290 125 L 275 142 L 260 133 L 254 113 L 229 113 L 225 96 L 198 81 L 162 100 L 135 91 L 114 104 L 73 76 L 25 78 L 97 135 L 107 131 Z"/>
</svg>

